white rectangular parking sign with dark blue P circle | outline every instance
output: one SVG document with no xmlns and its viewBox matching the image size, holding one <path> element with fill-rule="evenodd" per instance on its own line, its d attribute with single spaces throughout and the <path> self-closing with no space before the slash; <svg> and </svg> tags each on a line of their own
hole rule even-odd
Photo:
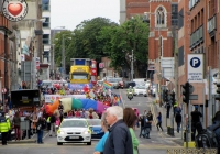
<svg viewBox="0 0 220 154">
<path fill-rule="evenodd" d="M 188 54 L 187 78 L 189 82 L 204 81 L 204 55 Z"/>
</svg>

